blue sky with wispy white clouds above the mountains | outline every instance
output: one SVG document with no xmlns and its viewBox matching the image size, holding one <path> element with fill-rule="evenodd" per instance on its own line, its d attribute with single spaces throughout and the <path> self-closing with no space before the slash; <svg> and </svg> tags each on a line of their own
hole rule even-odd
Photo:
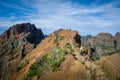
<svg viewBox="0 0 120 80">
<path fill-rule="evenodd" d="M 120 0 L 0 0 L 0 34 L 26 22 L 45 34 L 64 28 L 114 35 L 120 32 Z"/>
</svg>

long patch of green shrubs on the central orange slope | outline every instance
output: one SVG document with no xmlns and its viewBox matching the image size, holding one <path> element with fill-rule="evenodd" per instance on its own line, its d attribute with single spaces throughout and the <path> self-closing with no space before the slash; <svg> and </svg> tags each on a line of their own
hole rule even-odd
<svg viewBox="0 0 120 80">
<path fill-rule="evenodd" d="M 47 69 L 52 71 L 60 70 L 60 65 L 65 60 L 65 55 L 72 53 L 72 51 L 73 49 L 71 44 L 66 43 L 65 46 L 57 47 L 46 55 L 39 57 L 36 62 L 31 65 L 24 79 L 29 80 L 33 76 L 40 78 Z"/>
</svg>

